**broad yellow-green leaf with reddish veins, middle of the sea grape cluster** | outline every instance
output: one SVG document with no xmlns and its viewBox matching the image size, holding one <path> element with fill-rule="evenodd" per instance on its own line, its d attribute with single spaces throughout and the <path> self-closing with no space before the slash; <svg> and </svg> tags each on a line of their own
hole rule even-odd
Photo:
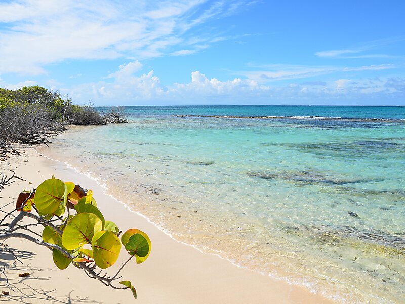
<svg viewBox="0 0 405 304">
<path fill-rule="evenodd" d="M 93 213 L 79 213 L 66 224 L 62 233 L 62 245 L 67 250 L 74 250 L 90 243 L 94 234 L 101 231 L 103 223 Z"/>
</svg>

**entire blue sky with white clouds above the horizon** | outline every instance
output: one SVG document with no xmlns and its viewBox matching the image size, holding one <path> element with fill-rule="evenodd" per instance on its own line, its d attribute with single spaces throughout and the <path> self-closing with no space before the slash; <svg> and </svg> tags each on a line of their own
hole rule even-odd
<svg viewBox="0 0 405 304">
<path fill-rule="evenodd" d="M 0 0 L 0 87 L 76 104 L 405 105 L 405 1 Z"/>
</svg>

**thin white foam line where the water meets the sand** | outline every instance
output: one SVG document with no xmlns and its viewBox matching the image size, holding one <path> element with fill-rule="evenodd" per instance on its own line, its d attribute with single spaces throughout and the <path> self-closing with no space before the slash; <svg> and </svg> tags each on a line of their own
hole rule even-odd
<svg viewBox="0 0 405 304">
<path fill-rule="evenodd" d="M 232 265 L 236 266 L 237 268 L 244 268 L 244 269 L 247 269 L 247 270 L 249 270 L 249 271 L 253 271 L 253 272 L 259 273 L 259 274 L 261 274 L 261 275 L 268 276 L 268 277 L 270 277 L 270 278 L 272 278 L 272 279 L 286 282 L 287 284 L 290 284 L 290 285 L 302 286 L 302 287 L 305 287 L 309 292 L 311 292 L 311 293 L 313 293 L 313 294 L 317 294 L 317 295 L 321 294 L 321 295 L 325 296 L 326 298 L 329 298 L 329 299 L 332 299 L 332 300 L 335 300 L 335 301 L 342 301 L 342 302 L 344 302 L 344 298 L 342 298 L 340 295 L 327 294 L 327 293 L 324 293 L 324 292 L 322 292 L 322 291 L 320 291 L 320 290 L 316 290 L 316 288 L 314 288 L 314 285 L 316 285 L 316 284 L 311 283 L 311 282 L 305 280 L 304 278 L 302 278 L 302 281 L 299 280 L 299 282 L 297 282 L 297 281 L 294 281 L 294 280 L 292 280 L 292 279 L 290 279 L 290 278 L 288 278 L 288 277 L 280 277 L 280 276 L 275 275 L 275 274 L 270 274 L 270 273 L 265 273 L 265 272 L 261 272 L 261 271 L 258 271 L 258 270 L 253 270 L 253 269 L 247 268 L 247 267 L 245 267 L 245 266 L 239 265 L 239 264 L 237 264 L 237 263 L 236 263 L 235 261 L 233 261 L 233 260 L 224 258 L 224 257 L 221 256 L 219 253 L 206 252 L 206 251 L 203 250 L 203 249 L 205 249 L 205 250 L 209 250 L 209 251 L 215 251 L 215 250 L 213 250 L 213 249 L 211 249 L 211 248 L 208 248 L 208 247 L 205 247 L 205 246 L 197 246 L 197 245 L 185 243 L 185 242 L 183 242 L 183 241 L 179 241 L 179 240 L 177 240 L 177 239 L 169 232 L 169 230 L 167 230 L 167 229 L 165 229 L 164 227 L 162 227 L 162 226 L 158 225 L 157 223 L 153 222 L 149 217 L 147 217 L 146 215 L 140 213 L 139 211 L 134 211 L 134 210 L 132 210 L 132 209 L 129 207 L 129 205 L 126 204 L 126 203 L 124 203 L 123 201 L 120 201 L 120 200 L 118 200 L 117 198 L 115 198 L 114 196 L 112 196 L 112 195 L 106 193 L 106 191 L 107 191 L 107 184 L 106 184 L 105 181 L 100 181 L 99 178 L 93 177 L 89 172 L 82 172 L 82 171 L 80 171 L 78 168 L 73 167 L 72 165 L 70 165 L 69 163 L 67 163 L 67 162 L 65 162 L 65 161 L 55 160 L 55 159 L 53 159 L 53 158 L 50 158 L 49 156 L 46 156 L 46 155 L 44 155 L 44 154 L 38 152 L 36 149 L 33 149 L 33 150 L 34 150 L 37 154 L 39 154 L 40 156 L 45 157 L 45 158 L 47 158 L 48 160 L 51 160 L 51 161 L 54 161 L 54 162 L 63 163 L 63 164 L 66 165 L 66 168 L 68 168 L 68 169 L 70 169 L 70 170 L 73 170 L 74 172 L 76 172 L 76 173 L 78 173 L 78 174 L 82 174 L 82 175 L 86 176 L 87 178 L 89 178 L 89 179 L 95 181 L 100 187 L 103 188 L 103 194 L 104 194 L 104 195 L 109 196 L 110 198 L 112 198 L 112 199 L 115 200 L 116 202 L 122 204 L 122 205 L 123 205 L 126 209 L 128 209 L 130 212 L 133 212 L 133 213 L 135 213 L 135 214 L 137 214 L 137 215 L 143 217 L 144 219 L 147 220 L 147 222 L 149 222 L 150 224 L 152 224 L 153 226 L 155 226 L 158 230 L 160 230 L 161 232 L 163 232 L 164 234 L 166 234 L 167 236 L 169 236 L 172 240 L 174 240 L 174 241 L 176 241 L 176 242 L 178 242 L 178 243 L 180 243 L 180 244 L 183 244 L 183 245 L 186 245 L 186 246 L 190 246 L 190 247 L 196 249 L 197 251 L 199 251 L 199 252 L 201 252 L 201 253 L 203 253 L 203 254 L 209 254 L 209 255 L 217 256 L 217 257 L 219 257 L 220 259 L 225 260 L 225 261 L 231 263 Z M 180 234 L 180 235 L 181 235 L 181 234 Z M 201 249 L 201 248 L 203 248 L 203 249 Z"/>
</svg>

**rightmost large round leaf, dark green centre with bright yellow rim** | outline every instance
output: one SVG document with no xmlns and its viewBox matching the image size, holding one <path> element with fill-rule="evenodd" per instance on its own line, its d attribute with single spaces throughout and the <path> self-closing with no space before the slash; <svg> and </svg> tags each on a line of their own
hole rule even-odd
<svg viewBox="0 0 405 304">
<path fill-rule="evenodd" d="M 121 236 L 121 243 L 129 254 L 135 255 L 136 263 L 144 262 L 152 248 L 148 235 L 139 229 L 129 229 Z"/>
</svg>

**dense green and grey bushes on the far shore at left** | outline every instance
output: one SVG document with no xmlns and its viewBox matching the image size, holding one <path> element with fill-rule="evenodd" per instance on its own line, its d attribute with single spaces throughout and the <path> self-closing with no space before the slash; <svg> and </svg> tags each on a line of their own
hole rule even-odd
<svg viewBox="0 0 405 304">
<path fill-rule="evenodd" d="M 18 153 L 13 143 L 47 144 L 70 125 L 105 125 L 127 122 L 120 108 L 106 113 L 79 106 L 58 91 L 39 86 L 0 88 L 0 157 Z"/>
</svg>

